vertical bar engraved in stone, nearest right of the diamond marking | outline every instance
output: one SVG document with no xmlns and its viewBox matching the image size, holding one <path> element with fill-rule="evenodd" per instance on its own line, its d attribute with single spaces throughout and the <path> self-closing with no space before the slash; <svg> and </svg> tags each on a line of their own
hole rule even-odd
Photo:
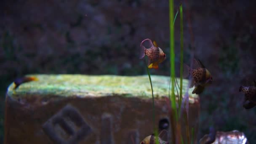
<svg viewBox="0 0 256 144">
<path fill-rule="evenodd" d="M 105 113 L 101 116 L 101 144 L 114 144 L 112 124 L 112 115 Z"/>
</svg>

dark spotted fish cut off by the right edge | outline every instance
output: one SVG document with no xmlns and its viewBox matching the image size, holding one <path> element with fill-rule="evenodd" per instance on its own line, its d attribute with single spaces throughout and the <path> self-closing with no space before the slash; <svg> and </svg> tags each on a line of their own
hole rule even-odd
<svg viewBox="0 0 256 144">
<path fill-rule="evenodd" d="M 256 105 L 256 81 L 254 80 L 253 86 L 240 86 L 239 91 L 245 94 L 243 107 L 251 109 Z"/>
</svg>

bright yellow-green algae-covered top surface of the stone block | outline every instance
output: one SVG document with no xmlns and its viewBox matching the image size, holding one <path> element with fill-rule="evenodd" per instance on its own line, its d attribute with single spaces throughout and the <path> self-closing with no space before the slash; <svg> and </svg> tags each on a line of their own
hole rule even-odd
<svg viewBox="0 0 256 144">
<path fill-rule="evenodd" d="M 8 88 L 8 96 L 140 96 L 151 98 L 151 88 L 147 75 L 142 76 L 117 76 L 117 75 L 28 75 L 35 76 L 39 80 L 24 83 L 16 90 L 13 84 Z M 156 97 L 168 96 L 169 80 L 167 76 L 152 75 L 152 85 Z M 177 78 L 179 83 L 179 78 Z M 183 93 L 186 91 L 188 80 L 183 80 Z M 192 94 L 190 98 L 197 95 Z M 175 94 L 176 91 L 175 91 Z M 190 99 L 192 100 L 192 99 Z M 190 101 L 192 102 L 192 101 Z"/>
</svg>

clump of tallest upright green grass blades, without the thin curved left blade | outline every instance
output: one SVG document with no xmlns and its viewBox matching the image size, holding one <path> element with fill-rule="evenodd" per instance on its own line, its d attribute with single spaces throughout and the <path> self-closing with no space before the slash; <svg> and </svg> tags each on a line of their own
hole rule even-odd
<svg viewBox="0 0 256 144">
<path fill-rule="evenodd" d="M 174 84 L 175 84 L 175 49 L 174 49 L 174 20 L 173 19 L 173 0 L 169 0 L 169 19 L 170 19 L 170 64 L 171 64 L 171 123 L 172 125 L 172 141 L 173 144 L 183 144 L 184 140 L 182 138 L 181 135 L 181 113 L 182 113 L 182 109 L 184 109 L 184 107 L 187 107 L 185 114 L 184 114 L 184 118 L 185 118 L 185 127 L 186 127 L 186 144 L 191 144 L 192 141 L 190 141 L 190 136 L 189 136 L 189 122 L 188 122 L 188 98 L 185 99 L 187 102 L 186 103 L 182 103 L 182 90 L 183 90 L 183 8 L 182 5 L 179 5 L 179 13 L 180 13 L 180 93 L 177 92 L 178 94 L 178 109 L 176 107 L 176 96 L 174 94 Z M 178 85 L 178 82 L 176 80 L 176 84 Z M 175 85 L 176 86 L 176 85 Z M 170 97 L 170 96 L 169 96 Z M 179 113 L 177 113 L 177 111 L 179 111 Z M 194 134 L 194 129 L 192 129 L 192 136 Z"/>
</svg>

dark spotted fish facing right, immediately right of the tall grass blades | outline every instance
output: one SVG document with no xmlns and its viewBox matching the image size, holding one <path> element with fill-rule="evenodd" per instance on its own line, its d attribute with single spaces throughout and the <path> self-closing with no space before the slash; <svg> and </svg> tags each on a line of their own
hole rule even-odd
<svg viewBox="0 0 256 144">
<path fill-rule="evenodd" d="M 190 68 L 188 65 L 184 64 L 183 76 L 184 78 L 189 75 L 192 76 L 192 83 L 189 88 L 195 85 L 195 89 L 192 93 L 200 94 L 203 92 L 205 86 L 212 83 L 213 77 L 199 59 L 193 60 L 193 66 L 194 68 Z"/>
</svg>

